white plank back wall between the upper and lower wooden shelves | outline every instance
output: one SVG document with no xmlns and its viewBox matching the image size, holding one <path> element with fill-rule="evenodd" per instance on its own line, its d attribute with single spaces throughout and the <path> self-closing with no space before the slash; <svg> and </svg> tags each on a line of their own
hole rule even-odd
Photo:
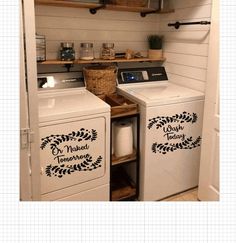
<svg viewBox="0 0 236 243">
<path fill-rule="evenodd" d="M 92 15 L 88 9 L 36 6 L 36 30 L 46 36 L 47 59 L 57 58 L 63 41 L 74 42 L 77 54 L 81 42 L 93 42 L 96 57 L 103 42 L 114 42 L 116 51 L 146 54 L 147 36 L 158 32 L 159 16 L 106 10 Z"/>
</svg>

